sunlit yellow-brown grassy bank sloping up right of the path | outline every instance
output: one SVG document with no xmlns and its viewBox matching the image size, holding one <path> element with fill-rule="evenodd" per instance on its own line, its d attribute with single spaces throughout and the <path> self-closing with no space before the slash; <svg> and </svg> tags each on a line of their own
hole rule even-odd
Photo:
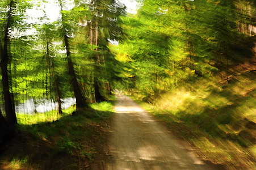
<svg viewBox="0 0 256 170">
<path fill-rule="evenodd" d="M 246 77 L 246 81 L 242 81 Z M 255 74 L 240 75 L 223 87 L 194 84 L 194 91 L 178 88 L 154 104 L 137 101 L 154 117 L 186 139 L 199 155 L 228 169 L 255 169 Z"/>
</svg>

